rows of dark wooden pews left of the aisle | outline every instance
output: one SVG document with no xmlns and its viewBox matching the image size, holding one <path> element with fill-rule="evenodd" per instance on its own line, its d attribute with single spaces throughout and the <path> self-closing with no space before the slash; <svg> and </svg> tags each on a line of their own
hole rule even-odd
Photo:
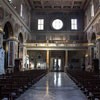
<svg viewBox="0 0 100 100">
<path fill-rule="evenodd" d="M 47 73 L 46 70 L 21 71 L 0 76 L 0 100 L 15 100 Z"/>
</svg>

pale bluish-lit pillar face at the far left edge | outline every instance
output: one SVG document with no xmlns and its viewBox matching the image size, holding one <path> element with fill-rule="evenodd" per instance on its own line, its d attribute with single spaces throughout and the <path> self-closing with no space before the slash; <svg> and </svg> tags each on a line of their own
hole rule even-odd
<svg viewBox="0 0 100 100">
<path fill-rule="evenodd" d="M 4 50 L 3 48 L 0 48 L 0 75 L 5 73 L 5 69 L 4 69 Z"/>
</svg>

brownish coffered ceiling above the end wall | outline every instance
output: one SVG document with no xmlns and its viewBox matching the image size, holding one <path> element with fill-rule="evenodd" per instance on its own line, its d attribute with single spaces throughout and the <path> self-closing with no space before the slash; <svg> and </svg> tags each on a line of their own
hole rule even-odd
<svg viewBox="0 0 100 100">
<path fill-rule="evenodd" d="M 34 10 L 81 10 L 87 0 L 29 0 Z"/>
</svg>

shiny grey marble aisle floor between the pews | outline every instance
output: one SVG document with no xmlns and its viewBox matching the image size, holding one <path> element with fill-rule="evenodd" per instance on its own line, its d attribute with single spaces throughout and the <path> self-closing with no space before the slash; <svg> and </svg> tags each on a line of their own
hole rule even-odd
<svg viewBox="0 0 100 100">
<path fill-rule="evenodd" d="M 17 100 L 87 100 L 64 72 L 50 72 Z"/>
</svg>

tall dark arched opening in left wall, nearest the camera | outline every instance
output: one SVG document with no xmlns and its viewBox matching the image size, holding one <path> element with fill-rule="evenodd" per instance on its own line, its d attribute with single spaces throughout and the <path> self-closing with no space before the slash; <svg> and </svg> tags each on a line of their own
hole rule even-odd
<svg viewBox="0 0 100 100">
<path fill-rule="evenodd" d="M 3 48 L 5 50 L 4 67 L 6 70 L 8 68 L 8 45 L 9 45 L 9 42 L 7 40 L 10 37 L 13 37 L 13 28 L 12 28 L 10 22 L 6 22 L 6 24 L 4 26 L 4 32 L 5 32 L 5 34 L 3 35 Z"/>
</svg>

